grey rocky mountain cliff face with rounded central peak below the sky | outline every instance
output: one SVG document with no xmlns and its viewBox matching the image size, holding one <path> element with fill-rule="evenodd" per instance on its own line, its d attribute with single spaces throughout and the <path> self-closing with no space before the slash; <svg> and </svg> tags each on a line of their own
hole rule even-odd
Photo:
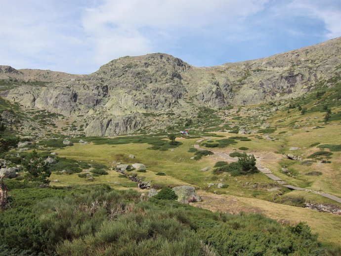
<svg viewBox="0 0 341 256">
<path fill-rule="evenodd" d="M 122 57 L 90 75 L 0 66 L 1 96 L 23 106 L 84 116 L 89 136 L 133 132 L 153 119 L 199 107 L 295 98 L 341 74 L 341 38 L 263 59 L 197 68 L 163 53 Z M 40 83 L 43 84 L 40 84 Z M 38 83 L 38 84 L 37 84 Z M 165 118 L 165 121 L 167 118 Z"/>
</svg>

